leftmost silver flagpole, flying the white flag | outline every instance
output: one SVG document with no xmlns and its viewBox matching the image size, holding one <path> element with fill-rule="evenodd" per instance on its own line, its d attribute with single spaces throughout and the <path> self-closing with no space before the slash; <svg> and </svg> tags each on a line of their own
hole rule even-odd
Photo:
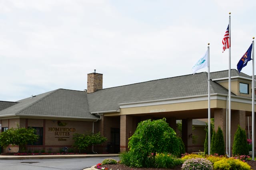
<svg viewBox="0 0 256 170">
<path fill-rule="evenodd" d="M 211 107 L 210 107 L 210 43 L 208 43 L 208 155 L 211 147 Z"/>
</svg>

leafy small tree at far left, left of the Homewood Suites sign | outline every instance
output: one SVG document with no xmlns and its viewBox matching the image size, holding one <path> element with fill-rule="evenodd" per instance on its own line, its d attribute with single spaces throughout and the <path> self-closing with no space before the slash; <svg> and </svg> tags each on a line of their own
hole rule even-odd
<svg viewBox="0 0 256 170">
<path fill-rule="evenodd" d="M 36 130 L 32 127 L 18 127 L 8 129 L 0 133 L 0 145 L 8 147 L 9 145 L 18 145 L 20 150 L 24 150 L 27 144 L 32 144 L 38 140 Z"/>
</svg>

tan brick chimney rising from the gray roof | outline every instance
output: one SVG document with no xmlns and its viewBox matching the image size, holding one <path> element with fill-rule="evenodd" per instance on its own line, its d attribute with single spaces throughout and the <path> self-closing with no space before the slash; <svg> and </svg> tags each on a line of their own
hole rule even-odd
<svg viewBox="0 0 256 170">
<path fill-rule="evenodd" d="M 93 93 L 96 90 L 102 89 L 103 74 L 93 73 L 87 74 L 87 93 Z"/>
</svg>

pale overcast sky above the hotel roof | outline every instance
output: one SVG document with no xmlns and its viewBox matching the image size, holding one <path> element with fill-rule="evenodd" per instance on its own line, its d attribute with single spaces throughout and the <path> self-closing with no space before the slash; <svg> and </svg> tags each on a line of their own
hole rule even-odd
<svg viewBox="0 0 256 170">
<path fill-rule="evenodd" d="M 255 0 L 0 0 L 0 100 L 58 88 L 110 88 L 192 74 L 210 43 L 210 72 L 231 68 L 256 35 Z M 207 71 L 207 68 L 198 72 Z M 242 69 L 252 75 L 252 61 Z"/>
</svg>

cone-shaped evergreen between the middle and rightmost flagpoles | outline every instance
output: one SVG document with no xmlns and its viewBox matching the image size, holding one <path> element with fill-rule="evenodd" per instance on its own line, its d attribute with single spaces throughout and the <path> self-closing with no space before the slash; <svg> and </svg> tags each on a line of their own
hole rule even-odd
<svg viewBox="0 0 256 170">
<path fill-rule="evenodd" d="M 236 130 L 233 141 L 233 150 L 232 154 L 235 155 L 248 155 L 249 148 L 247 144 L 246 132 L 244 129 L 241 129 L 240 125 Z"/>
</svg>

